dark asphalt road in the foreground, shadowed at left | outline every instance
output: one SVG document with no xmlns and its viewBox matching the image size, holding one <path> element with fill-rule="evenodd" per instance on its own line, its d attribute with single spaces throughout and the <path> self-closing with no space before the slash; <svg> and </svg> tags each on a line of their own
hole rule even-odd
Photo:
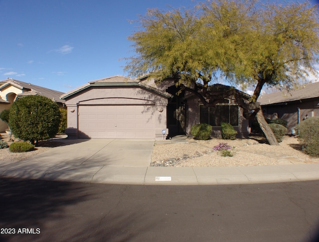
<svg viewBox="0 0 319 242">
<path fill-rule="evenodd" d="M 0 241 L 7 242 L 315 242 L 319 181 L 140 186 L 0 178 L 0 208 Z"/>
</svg>

